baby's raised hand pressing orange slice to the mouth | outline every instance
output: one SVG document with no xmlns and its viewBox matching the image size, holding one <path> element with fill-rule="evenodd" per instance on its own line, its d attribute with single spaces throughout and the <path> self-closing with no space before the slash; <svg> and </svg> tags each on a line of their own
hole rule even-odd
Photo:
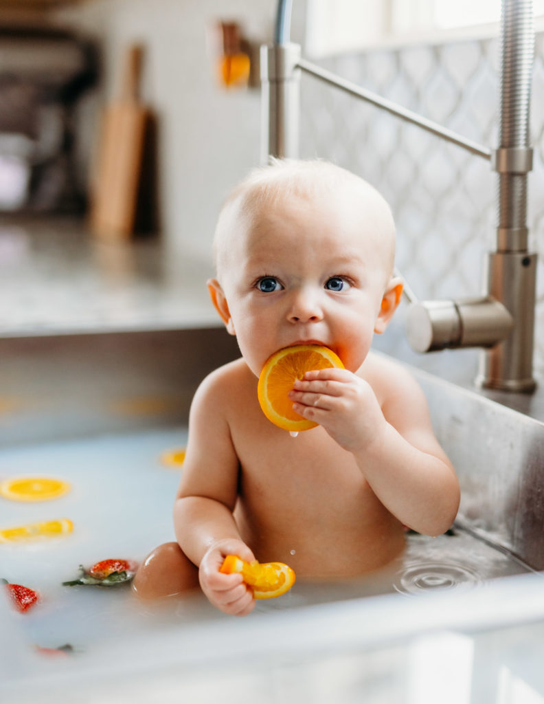
<svg viewBox="0 0 544 704">
<path fill-rule="evenodd" d="M 372 386 L 347 369 L 306 372 L 289 398 L 298 415 L 322 425 L 349 452 L 364 451 L 384 427 Z"/>
</svg>

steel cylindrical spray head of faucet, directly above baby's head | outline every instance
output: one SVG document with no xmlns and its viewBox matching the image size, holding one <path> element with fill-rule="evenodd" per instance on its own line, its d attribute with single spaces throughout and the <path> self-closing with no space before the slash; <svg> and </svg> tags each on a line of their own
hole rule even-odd
<svg viewBox="0 0 544 704">
<path fill-rule="evenodd" d="M 261 161 L 298 156 L 301 56 L 298 44 L 261 46 Z"/>
</svg>

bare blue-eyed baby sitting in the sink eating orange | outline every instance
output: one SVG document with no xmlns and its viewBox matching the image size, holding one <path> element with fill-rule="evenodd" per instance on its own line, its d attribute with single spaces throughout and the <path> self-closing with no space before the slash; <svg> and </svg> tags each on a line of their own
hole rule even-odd
<svg viewBox="0 0 544 704">
<path fill-rule="evenodd" d="M 241 358 L 196 392 L 177 543 L 145 560 L 140 596 L 200 582 L 217 608 L 246 615 L 251 590 L 219 571 L 229 553 L 286 562 L 298 577 L 349 577 L 393 560 L 405 527 L 435 536 L 451 526 L 459 486 L 424 395 L 370 351 L 402 291 L 394 250 L 384 199 L 330 163 L 277 161 L 229 196 L 208 288 Z M 327 346 L 346 368 L 294 384 L 293 410 L 319 425 L 293 438 L 262 413 L 257 384 L 267 358 L 297 344 Z"/>
</svg>

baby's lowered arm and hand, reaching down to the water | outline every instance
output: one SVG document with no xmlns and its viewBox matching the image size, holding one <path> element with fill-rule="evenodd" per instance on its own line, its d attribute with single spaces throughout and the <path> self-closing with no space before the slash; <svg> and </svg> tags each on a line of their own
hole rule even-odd
<svg viewBox="0 0 544 704">
<path fill-rule="evenodd" d="M 229 553 L 254 560 L 240 538 L 232 510 L 236 503 L 238 458 L 225 417 L 221 372 L 207 377 L 195 394 L 189 417 L 189 442 L 174 506 L 177 541 L 198 565 L 201 588 L 210 602 L 232 615 L 246 615 L 254 606 L 241 574 L 219 569 Z"/>
</svg>

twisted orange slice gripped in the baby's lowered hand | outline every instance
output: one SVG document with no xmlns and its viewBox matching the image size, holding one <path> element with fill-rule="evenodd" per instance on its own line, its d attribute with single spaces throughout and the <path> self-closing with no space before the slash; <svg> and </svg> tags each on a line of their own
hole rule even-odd
<svg viewBox="0 0 544 704">
<path fill-rule="evenodd" d="M 227 555 L 220 567 L 223 574 L 241 572 L 243 581 L 253 590 L 255 599 L 282 596 L 295 584 L 295 573 L 284 562 L 246 562 L 238 555 Z"/>
</svg>

